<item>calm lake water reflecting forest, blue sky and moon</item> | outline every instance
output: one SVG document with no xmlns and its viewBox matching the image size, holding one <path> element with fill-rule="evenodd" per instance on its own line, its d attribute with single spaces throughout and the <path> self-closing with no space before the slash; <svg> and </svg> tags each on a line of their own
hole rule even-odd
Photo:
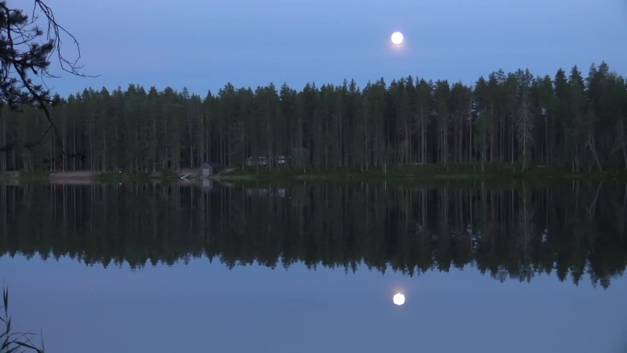
<svg viewBox="0 0 627 353">
<path fill-rule="evenodd" d="M 46 352 L 627 352 L 626 231 L 607 182 L 0 185 L 0 281 Z"/>
</svg>

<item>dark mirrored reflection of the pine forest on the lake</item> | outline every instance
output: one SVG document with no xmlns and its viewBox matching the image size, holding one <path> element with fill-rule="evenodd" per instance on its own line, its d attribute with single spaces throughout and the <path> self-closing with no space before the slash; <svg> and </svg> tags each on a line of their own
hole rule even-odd
<svg viewBox="0 0 627 353">
<path fill-rule="evenodd" d="M 203 256 L 229 268 L 363 264 L 408 276 L 470 265 L 500 281 L 588 274 L 603 288 L 627 264 L 626 185 L 305 184 L 0 185 L 0 254 L 132 269 Z"/>
</svg>

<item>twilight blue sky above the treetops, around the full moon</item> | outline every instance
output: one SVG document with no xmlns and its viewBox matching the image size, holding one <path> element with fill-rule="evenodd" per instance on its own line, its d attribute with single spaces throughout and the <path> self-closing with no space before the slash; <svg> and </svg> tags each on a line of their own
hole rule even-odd
<svg viewBox="0 0 627 353">
<path fill-rule="evenodd" d="M 28 4 L 29 0 L 18 0 Z M 307 82 L 413 75 L 472 84 L 493 70 L 554 75 L 605 60 L 627 74 L 625 0 L 108 0 L 55 1 L 82 45 L 82 79 L 48 82 L 67 95 L 131 83 L 226 82 L 300 89 Z M 402 31 L 401 50 L 389 36 Z M 65 41 L 66 48 L 71 42 Z"/>
</svg>

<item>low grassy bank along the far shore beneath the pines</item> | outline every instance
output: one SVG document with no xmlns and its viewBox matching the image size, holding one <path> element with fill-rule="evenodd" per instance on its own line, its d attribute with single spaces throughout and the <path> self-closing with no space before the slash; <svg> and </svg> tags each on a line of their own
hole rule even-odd
<svg viewBox="0 0 627 353">
<path fill-rule="evenodd" d="M 0 182 L 122 182 L 149 180 L 179 180 L 180 176 L 191 173 L 190 179 L 196 179 L 196 170 L 181 169 L 179 171 L 163 170 L 155 172 L 117 173 L 113 171 L 3 171 Z M 490 165 L 385 165 L 383 167 L 347 166 L 347 167 L 234 167 L 226 168 L 213 176 L 216 181 L 290 181 L 290 180 L 328 180 L 328 181 L 394 181 L 405 182 L 429 180 L 473 180 L 473 181 L 508 181 L 508 180 L 627 180 L 624 168 L 605 168 L 580 171 L 569 168 L 531 165 L 523 169 L 522 165 L 490 164 Z"/>
</svg>

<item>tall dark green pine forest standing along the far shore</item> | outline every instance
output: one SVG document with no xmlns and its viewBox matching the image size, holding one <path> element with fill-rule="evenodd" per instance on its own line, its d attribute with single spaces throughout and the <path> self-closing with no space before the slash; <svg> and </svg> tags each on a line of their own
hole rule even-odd
<svg viewBox="0 0 627 353">
<path fill-rule="evenodd" d="M 363 89 L 354 80 L 299 91 L 227 84 L 205 97 L 129 85 L 56 95 L 55 102 L 58 133 L 43 139 L 50 124 L 39 109 L 3 107 L 0 170 L 178 170 L 243 165 L 250 156 L 362 170 L 405 163 L 627 168 L 627 84 L 604 62 L 585 79 L 577 67 L 554 77 L 498 70 L 473 86 L 409 76 Z"/>
</svg>

